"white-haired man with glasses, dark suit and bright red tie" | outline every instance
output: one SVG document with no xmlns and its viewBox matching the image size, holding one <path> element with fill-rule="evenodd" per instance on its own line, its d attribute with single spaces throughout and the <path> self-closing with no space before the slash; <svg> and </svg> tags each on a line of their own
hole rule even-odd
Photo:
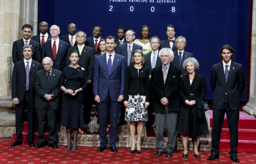
<svg viewBox="0 0 256 164">
<path fill-rule="evenodd" d="M 53 61 L 53 68 L 62 71 L 65 68 L 65 61 L 68 52 L 68 43 L 59 39 L 60 27 L 52 25 L 50 27 L 51 41 L 43 45 L 42 58 L 50 57 Z"/>
</svg>

